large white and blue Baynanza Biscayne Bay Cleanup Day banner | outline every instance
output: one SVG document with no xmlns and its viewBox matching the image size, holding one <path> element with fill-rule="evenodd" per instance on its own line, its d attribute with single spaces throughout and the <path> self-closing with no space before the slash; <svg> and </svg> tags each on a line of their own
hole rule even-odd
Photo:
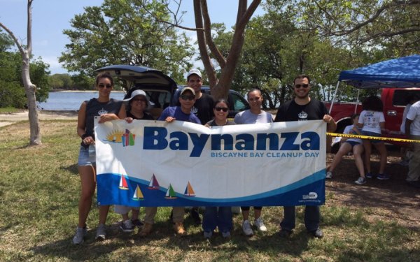
<svg viewBox="0 0 420 262">
<path fill-rule="evenodd" d="M 322 205 L 325 132 L 322 120 L 208 128 L 95 119 L 98 203 Z"/>
</svg>

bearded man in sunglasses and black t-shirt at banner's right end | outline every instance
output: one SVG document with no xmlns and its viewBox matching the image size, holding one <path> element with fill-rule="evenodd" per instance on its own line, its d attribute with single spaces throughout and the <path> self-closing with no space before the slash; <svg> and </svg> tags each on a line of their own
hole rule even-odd
<svg viewBox="0 0 420 262">
<path fill-rule="evenodd" d="M 316 99 L 309 97 L 309 77 L 307 75 L 298 75 L 293 81 L 293 91 L 295 92 L 295 99 L 283 103 L 277 111 L 274 122 L 289 122 L 289 121 L 307 121 L 323 119 L 327 124 L 327 130 L 335 131 L 337 124 L 330 115 L 325 105 Z M 284 217 L 281 221 L 280 235 L 288 237 L 293 228 L 295 228 L 295 207 L 283 207 Z M 322 238 L 323 233 L 319 228 L 319 221 L 321 214 L 318 205 L 307 205 L 304 208 L 304 224 L 315 238 Z"/>
</svg>

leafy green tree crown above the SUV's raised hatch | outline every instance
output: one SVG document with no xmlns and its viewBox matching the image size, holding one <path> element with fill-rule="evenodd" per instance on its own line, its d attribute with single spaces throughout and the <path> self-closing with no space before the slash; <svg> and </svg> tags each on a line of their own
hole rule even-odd
<svg viewBox="0 0 420 262">
<path fill-rule="evenodd" d="M 102 66 L 130 64 L 158 68 L 183 81 L 193 48 L 185 34 L 167 29 L 155 17 L 169 21 L 158 1 L 106 0 L 102 6 L 86 7 L 71 20 L 73 29 L 64 30 L 71 43 L 59 61 L 69 71 L 90 76 Z"/>
</svg>

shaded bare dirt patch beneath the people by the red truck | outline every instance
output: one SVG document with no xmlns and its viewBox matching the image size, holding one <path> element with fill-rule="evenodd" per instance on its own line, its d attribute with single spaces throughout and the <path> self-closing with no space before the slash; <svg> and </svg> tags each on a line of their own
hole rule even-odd
<svg viewBox="0 0 420 262">
<path fill-rule="evenodd" d="M 332 162 L 334 154 L 327 154 L 327 165 Z M 373 208 L 370 219 L 387 219 L 398 221 L 409 228 L 420 230 L 420 189 L 410 187 L 405 178 L 408 167 L 400 166 L 398 148 L 388 147 L 386 173 L 389 180 L 367 179 L 363 185 L 355 184 L 358 170 L 353 156 L 345 156 L 334 170 L 332 180 L 325 182 L 327 205 L 341 203 L 352 208 Z M 379 157 L 372 154 L 372 172 L 379 170 Z M 329 194 L 332 193 L 332 194 Z"/>
</svg>

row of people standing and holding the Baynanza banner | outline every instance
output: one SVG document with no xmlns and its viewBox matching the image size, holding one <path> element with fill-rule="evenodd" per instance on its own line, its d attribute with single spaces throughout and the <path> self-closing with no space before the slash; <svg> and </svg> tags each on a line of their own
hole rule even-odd
<svg viewBox="0 0 420 262">
<path fill-rule="evenodd" d="M 262 93 L 260 89 L 251 89 L 247 94 L 250 109 L 239 112 L 234 121 L 228 120 L 230 105 L 225 99 L 214 99 L 201 92 L 202 75 L 197 69 L 192 69 L 187 75 L 187 87 L 181 90 L 179 96 L 179 106 L 169 106 L 162 111 L 158 120 L 166 122 L 186 121 L 205 126 L 224 126 L 232 124 L 258 124 L 270 122 L 289 122 L 289 121 L 307 121 L 323 119 L 327 123 L 328 131 L 335 131 L 337 124 L 330 115 L 325 105 L 309 96 L 310 79 L 307 75 L 298 75 L 293 82 L 295 98 L 283 103 L 279 108 L 275 119 L 269 112 L 261 109 Z M 125 119 L 132 122 L 133 119 L 153 119 L 146 112 L 148 107 L 148 97 L 142 90 L 132 92 L 127 101 L 127 108 L 124 101 L 116 101 L 110 98 L 110 92 L 113 89 L 113 79 L 108 73 L 97 75 L 96 87 L 99 91 L 97 99 L 84 101 L 78 112 L 78 135 L 82 139 L 78 158 L 78 170 L 81 182 L 81 194 L 79 201 L 78 226 L 73 238 L 74 244 L 81 244 L 87 233 L 86 219 L 92 205 L 92 197 L 95 190 L 95 158 L 94 152 L 94 117 L 99 116 L 99 123 L 111 121 L 114 119 Z M 144 224 L 139 220 L 139 209 L 116 205 L 117 213 L 122 214 L 123 222 L 120 228 L 124 232 L 131 232 L 134 226 L 142 226 L 139 231 L 140 236 L 149 235 L 153 231 L 153 224 L 157 207 L 145 208 Z M 132 216 L 128 213 L 132 210 Z M 197 208 L 193 208 L 193 214 L 197 219 Z M 243 222 L 242 230 L 245 235 L 253 235 L 253 229 L 249 219 L 250 207 L 241 207 Z M 253 225 L 258 231 L 267 231 L 262 221 L 262 207 L 253 207 L 254 221 Z M 288 237 L 295 228 L 295 207 L 284 207 L 283 221 L 281 221 L 280 235 Z M 97 227 L 96 239 L 106 238 L 106 216 L 109 212 L 108 205 L 99 206 L 99 226 Z M 183 207 L 174 207 L 172 210 L 173 228 L 176 234 L 186 233 L 183 227 L 185 210 Z M 305 207 L 304 223 L 307 231 L 316 238 L 322 238 L 320 224 L 319 206 Z M 198 219 L 200 217 L 198 216 Z M 232 210 L 230 207 L 207 207 L 205 208 L 202 228 L 204 238 L 211 238 L 216 228 L 221 232 L 224 238 L 230 237 L 233 228 Z"/>
</svg>

